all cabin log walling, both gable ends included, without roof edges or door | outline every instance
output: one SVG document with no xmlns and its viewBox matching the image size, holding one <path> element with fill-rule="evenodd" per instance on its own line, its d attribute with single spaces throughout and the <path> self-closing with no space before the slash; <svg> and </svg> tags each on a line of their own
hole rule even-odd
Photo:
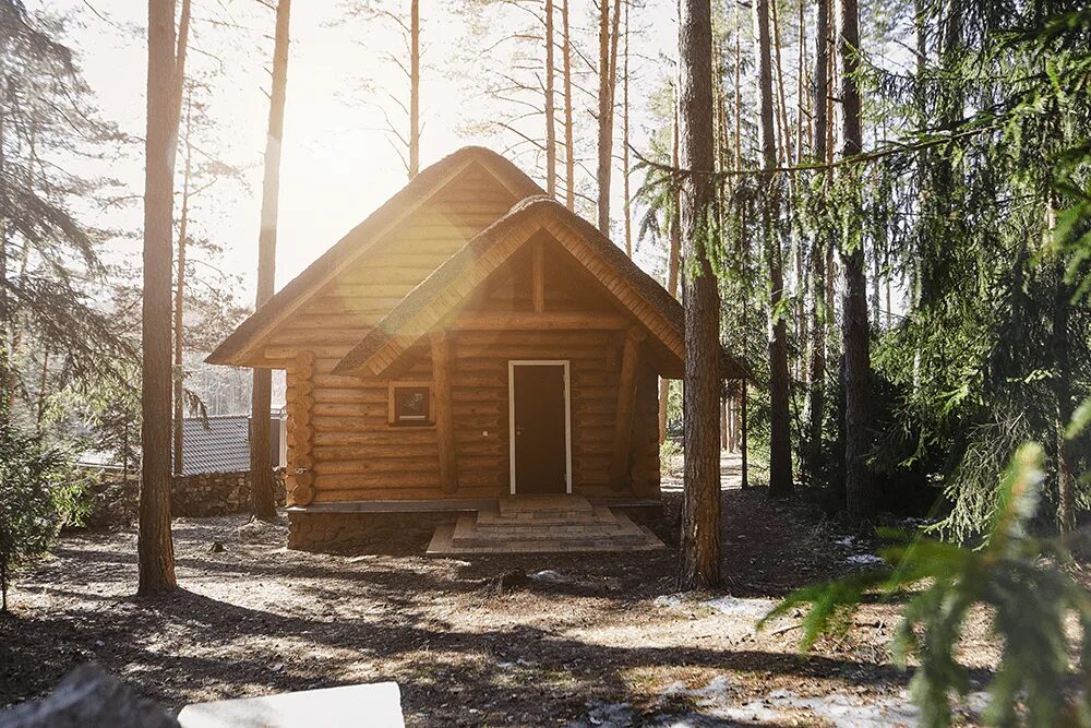
<svg viewBox="0 0 1091 728">
<path fill-rule="evenodd" d="M 646 358 L 625 357 L 631 322 L 595 290 L 585 271 L 558 264 L 555 247 L 520 251 L 491 290 L 467 307 L 467 313 L 520 329 L 456 324 L 424 341 L 420 356 L 398 373 L 397 380 L 432 382 L 434 422 L 392 426 L 389 380 L 333 373 L 393 306 L 511 206 L 509 193 L 482 175 L 452 186 L 264 342 L 268 366 L 288 371 L 288 488 L 295 504 L 507 493 L 509 359 L 571 362 L 575 492 L 658 496 L 656 373 Z M 535 313 L 551 317 L 549 324 L 527 329 L 526 317 Z M 590 321 L 583 317 L 596 317 L 602 327 L 580 325 Z M 619 476 L 624 485 L 616 489 L 619 479 L 611 488 L 610 475 L 626 362 L 635 398 L 622 403 L 631 411 L 623 413 L 631 420 L 628 473 Z M 449 420 L 439 416 L 441 409 Z"/>
</svg>

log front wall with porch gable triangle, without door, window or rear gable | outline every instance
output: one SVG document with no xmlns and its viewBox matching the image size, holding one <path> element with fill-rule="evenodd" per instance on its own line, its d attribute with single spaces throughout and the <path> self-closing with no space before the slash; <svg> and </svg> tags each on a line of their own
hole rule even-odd
<svg viewBox="0 0 1091 728">
<path fill-rule="evenodd" d="M 396 372 L 338 374 L 332 360 L 316 359 L 303 381 L 301 368 L 289 367 L 289 466 L 307 468 L 288 478 L 293 502 L 508 492 L 513 360 L 567 363 L 574 492 L 657 497 L 658 379 L 639 329 L 560 243 L 531 240 L 467 297 L 447 329 L 413 343 Z M 427 426 L 391 421 L 391 392 L 408 382 L 430 387 Z"/>
</svg>

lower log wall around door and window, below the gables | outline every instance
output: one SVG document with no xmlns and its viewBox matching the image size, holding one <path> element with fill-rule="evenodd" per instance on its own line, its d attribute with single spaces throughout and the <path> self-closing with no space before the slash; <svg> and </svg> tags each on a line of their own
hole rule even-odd
<svg viewBox="0 0 1091 728">
<path fill-rule="evenodd" d="M 329 373 L 337 356 L 300 354 L 288 369 L 289 493 L 298 505 L 350 500 L 496 498 L 508 492 L 509 359 L 567 359 L 573 484 L 585 496 L 659 493 L 656 373 L 637 368 L 631 474 L 611 487 L 624 331 L 457 331 L 442 337 L 451 387 L 454 457 L 441 428 L 391 426 L 389 382 Z M 346 347 L 347 350 L 347 347 Z M 429 351 L 434 349 L 429 349 Z M 425 353 L 407 380 L 430 380 Z M 442 379 L 442 378 L 441 378 Z M 437 415 L 439 413 L 436 413 Z M 447 451 L 449 452 L 449 451 Z"/>
</svg>

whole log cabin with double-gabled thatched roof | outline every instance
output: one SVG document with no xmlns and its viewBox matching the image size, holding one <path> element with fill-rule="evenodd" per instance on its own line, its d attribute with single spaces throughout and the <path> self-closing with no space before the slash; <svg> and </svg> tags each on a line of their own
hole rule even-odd
<svg viewBox="0 0 1091 728">
<path fill-rule="evenodd" d="M 481 147 L 421 171 L 207 358 L 286 371 L 299 548 L 365 536 L 379 513 L 654 512 L 658 378 L 683 359 L 679 302 Z"/>
</svg>

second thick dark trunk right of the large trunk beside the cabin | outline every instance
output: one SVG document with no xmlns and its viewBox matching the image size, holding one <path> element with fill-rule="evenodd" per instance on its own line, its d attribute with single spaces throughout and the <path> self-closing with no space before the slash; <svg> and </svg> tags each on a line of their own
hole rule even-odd
<svg viewBox="0 0 1091 728">
<path fill-rule="evenodd" d="M 841 57 L 842 158 L 860 153 L 860 28 L 856 0 L 841 0 L 839 38 Z M 850 172 L 851 174 L 851 172 Z M 853 523 L 864 523 L 875 515 L 875 493 L 865 458 L 871 450 L 870 370 L 871 353 L 867 323 L 867 278 L 864 273 L 864 248 L 861 223 L 850 215 L 840 247 L 844 270 L 841 341 L 844 348 L 844 467 L 846 511 Z"/>
</svg>

